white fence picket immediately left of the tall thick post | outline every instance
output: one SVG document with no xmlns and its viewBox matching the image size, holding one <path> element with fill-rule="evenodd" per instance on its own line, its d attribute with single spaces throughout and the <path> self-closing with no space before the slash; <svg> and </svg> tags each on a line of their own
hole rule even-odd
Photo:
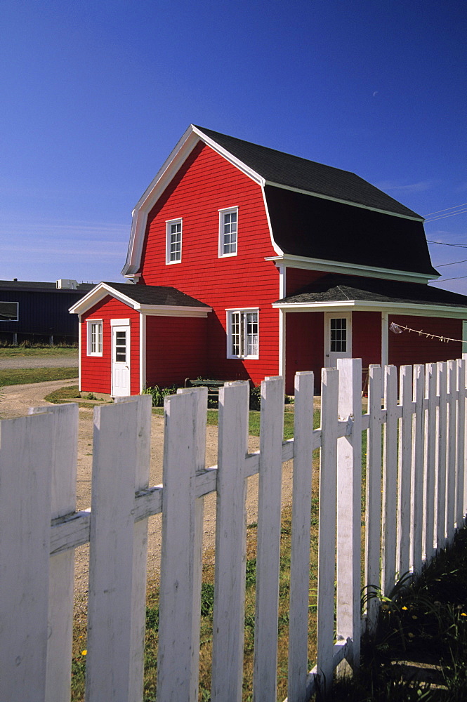
<svg viewBox="0 0 467 702">
<path fill-rule="evenodd" d="M 318 536 L 317 675 L 329 687 L 334 670 L 336 581 L 337 407 L 339 371 L 321 371 L 320 519 Z"/>
</svg>

